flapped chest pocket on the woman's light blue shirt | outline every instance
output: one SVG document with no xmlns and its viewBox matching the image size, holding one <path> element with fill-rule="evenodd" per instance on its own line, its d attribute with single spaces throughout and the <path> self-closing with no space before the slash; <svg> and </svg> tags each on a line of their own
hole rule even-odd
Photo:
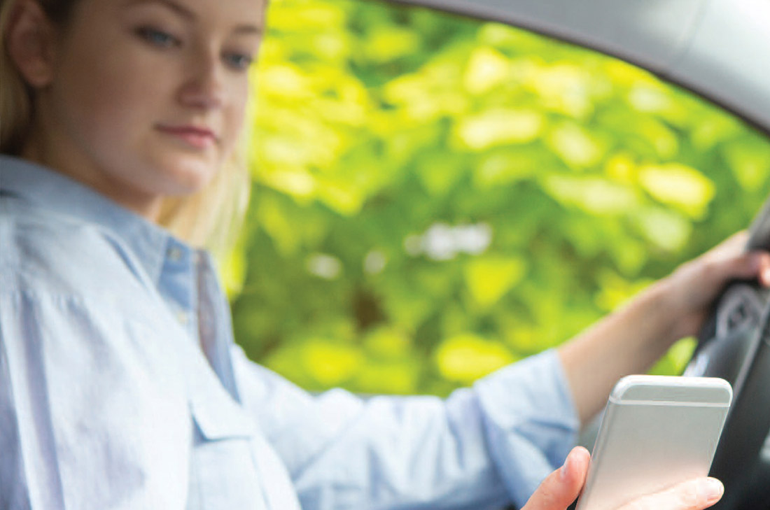
<svg viewBox="0 0 770 510">
<path fill-rule="evenodd" d="M 254 465 L 256 424 L 219 385 L 189 397 L 193 444 L 187 510 L 265 510 Z"/>
</svg>

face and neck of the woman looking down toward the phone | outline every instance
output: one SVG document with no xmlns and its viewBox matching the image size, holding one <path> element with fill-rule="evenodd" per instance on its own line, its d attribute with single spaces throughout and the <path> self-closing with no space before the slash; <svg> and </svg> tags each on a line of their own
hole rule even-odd
<svg viewBox="0 0 770 510">
<path fill-rule="evenodd" d="M 152 216 L 233 151 L 261 0 L 78 0 L 38 89 L 33 158 Z"/>
</svg>

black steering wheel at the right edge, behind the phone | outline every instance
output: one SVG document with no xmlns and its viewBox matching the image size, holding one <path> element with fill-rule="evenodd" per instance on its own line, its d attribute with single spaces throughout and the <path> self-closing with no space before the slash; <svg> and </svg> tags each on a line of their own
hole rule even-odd
<svg viewBox="0 0 770 510">
<path fill-rule="evenodd" d="M 749 228 L 746 249 L 770 250 L 770 198 Z M 725 484 L 725 495 L 712 508 L 770 508 L 770 291 L 755 281 L 727 285 L 685 375 L 721 377 L 733 388 L 710 472 Z"/>
</svg>

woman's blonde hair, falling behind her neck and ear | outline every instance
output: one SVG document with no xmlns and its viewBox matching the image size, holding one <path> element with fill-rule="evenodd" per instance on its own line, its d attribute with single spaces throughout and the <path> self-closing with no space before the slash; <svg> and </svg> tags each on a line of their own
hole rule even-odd
<svg viewBox="0 0 770 510">
<path fill-rule="evenodd" d="M 37 2 L 52 22 L 61 25 L 67 22 L 77 0 Z M 0 152 L 19 155 L 32 125 L 34 98 L 5 44 L 5 28 L 13 5 L 15 0 L 2 0 L 0 5 Z M 252 110 L 247 108 L 247 112 Z M 252 115 L 246 115 L 245 125 L 251 125 L 251 121 Z M 160 225 L 191 245 L 205 246 L 214 252 L 223 252 L 233 244 L 249 203 L 248 132 L 243 130 L 233 155 L 206 188 L 194 195 L 164 199 Z"/>
</svg>

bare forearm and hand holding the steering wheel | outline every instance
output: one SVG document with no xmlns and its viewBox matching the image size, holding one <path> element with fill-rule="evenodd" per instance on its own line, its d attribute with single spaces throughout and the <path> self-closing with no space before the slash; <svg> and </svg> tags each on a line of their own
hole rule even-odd
<svg viewBox="0 0 770 510">
<path fill-rule="evenodd" d="M 679 338 L 698 332 L 733 278 L 770 286 L 770 254 L 743 251 L 745 232 L 682 265 L 559 349 L 581 422 L 601 411 L 619 378 L 647 372 Z"/>
</svg>

